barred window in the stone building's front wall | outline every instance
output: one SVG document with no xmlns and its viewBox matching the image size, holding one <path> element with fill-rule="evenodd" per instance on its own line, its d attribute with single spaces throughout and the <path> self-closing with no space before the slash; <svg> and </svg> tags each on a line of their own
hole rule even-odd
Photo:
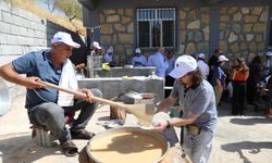
<svg viewBox="0 0 272 163">
<path fill-rule="evenodd" d="M 137 9 L 137 46 L 143 48 L 175 46 L 175 9 Z"/>
</svg>

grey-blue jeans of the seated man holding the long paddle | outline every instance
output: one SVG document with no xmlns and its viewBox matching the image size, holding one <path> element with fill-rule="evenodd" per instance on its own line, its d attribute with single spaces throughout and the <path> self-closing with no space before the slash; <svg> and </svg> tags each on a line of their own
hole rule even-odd
<svg viewBox="0 0 272 163">
<path fill-rule="evenodd" d="M 90 89 L 95 97 L 102 97 L 99 89 Z M 53 102 L 45 102 L 28 110 L 30 123 L 34 126 L 44 126 L 58 139 L 71 139 L 70 130 L 85 128 L 94 115 L 98 102 L 89 103 L 84 100 L 75 100 L 73 106 L 61 108 Z M 65 115 L 81 111 L 70 130 L 65 127 Z"/>
</svg>

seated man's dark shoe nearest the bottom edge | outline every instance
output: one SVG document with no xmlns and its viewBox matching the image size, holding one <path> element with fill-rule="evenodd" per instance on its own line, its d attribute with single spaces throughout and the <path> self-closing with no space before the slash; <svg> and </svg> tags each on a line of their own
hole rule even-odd
<svg viewBox="0 0 272 163">
<path fill-rule="evenodd" d="M 75 156 L 78 149 L 76 145 L 71 140 L 60 140 L 62 152 L 66 156 Z"/>
</svg>

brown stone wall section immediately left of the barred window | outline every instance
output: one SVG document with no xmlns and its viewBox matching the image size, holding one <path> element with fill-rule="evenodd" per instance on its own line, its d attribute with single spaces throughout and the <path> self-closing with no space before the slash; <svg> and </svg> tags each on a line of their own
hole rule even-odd
<svg viewBox="0 0 272 163">
<path fill-rule="evenodd" d="M 134 10 L 102 10 L 99 17 L 101 45 L 113 46 L 116 62 L 126 64 L 135 48 Z"/>
</svg>

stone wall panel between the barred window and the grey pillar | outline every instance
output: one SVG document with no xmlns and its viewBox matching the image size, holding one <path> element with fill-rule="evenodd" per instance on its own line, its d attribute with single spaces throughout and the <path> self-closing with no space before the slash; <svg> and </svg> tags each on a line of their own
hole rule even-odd
<svg viewBox="0 0 272 163">
<path fill-rule="evenodd" d="M 180 53 L 209 54 L 209 8 L 180 9 Z"/>
</svg>

